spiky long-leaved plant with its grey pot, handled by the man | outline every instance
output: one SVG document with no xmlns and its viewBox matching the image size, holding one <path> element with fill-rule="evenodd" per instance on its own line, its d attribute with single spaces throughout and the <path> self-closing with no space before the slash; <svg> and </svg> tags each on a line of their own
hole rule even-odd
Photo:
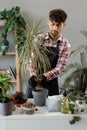
<svg viewBox="0 0 87 130">
<path fill-rule="evenodd" d="M 33 65 L 34 68 L 36 68 L 36 75 L 37 75 L 37 81 L 38 84 L 36 85 L 34 91 L 33 91 L 33 97 L 36 105 L 45 105 L 45 100 L 48 95 L 48 90 L 43 88 L 43 85 L 41 84 L 42 80 L 42 73 L 46 72 L 50 68 L 50 63 L 47 58 L 47 48 L 43 44 L 43 38 L 39 35 L 42 33 L 41 24 L 43 22 L 43 19 L 38 20 L 36 23 L 31 24 L 30 22 L 26 21 L 26 31 L 25 31 L 25 44 L 24 46 L 20 46 L 18 49 L 18 54 L 20 57 L 20 65 L 22 69 L 22 73 L 26 73 L 29 76 L 28 69 L 26 69 L 26 64 L 29 65 L 29 59 L 31 58 L 31 52 L 34 52 L 34 60 Z M 20 38 L 20 37 L 18 37 Z M 35 40 L 38 39 L 38 40 Z M 43 50 L 43 52 L 41 51 Z M 44 70 L 42 70 L 42 66 L 44 66 Z M 24 71 L 23 71 L 24 70 Z M 35 96 L 34 96 L 35 94 Z M 37 96 L 40 94 L 39 101 L 36 103 Z M 42 98 L 43 95 L 43 98 Z"/>
</svg>

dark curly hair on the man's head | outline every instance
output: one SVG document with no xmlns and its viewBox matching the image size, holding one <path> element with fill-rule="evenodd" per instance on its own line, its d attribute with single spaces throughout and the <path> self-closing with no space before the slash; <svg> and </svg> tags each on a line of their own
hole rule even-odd
<svg viewBox="0 0 87 130">
<path fill-rule="evenodd" d="M 58 23 L 65 22 L 67 14 L 62 9 L 53 9 L 49 12 L 49 19 Z"/>
</svg>

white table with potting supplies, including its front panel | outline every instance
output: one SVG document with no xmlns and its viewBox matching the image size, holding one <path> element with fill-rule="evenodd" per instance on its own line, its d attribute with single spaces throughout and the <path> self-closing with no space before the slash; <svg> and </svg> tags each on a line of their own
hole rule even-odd
<svg viewBox="0 0 87 130">
<path fill-rule="evenodd" d="M 25 115 L 17 108 L 10 116 L 0 116 L 0 130 L 86 130 L 87 114 L 80 116 L 81 120 L 71 125 L 71 114 L 48 113 L 46 107 L 38 107 L 35 114 Z"/>
</svg>

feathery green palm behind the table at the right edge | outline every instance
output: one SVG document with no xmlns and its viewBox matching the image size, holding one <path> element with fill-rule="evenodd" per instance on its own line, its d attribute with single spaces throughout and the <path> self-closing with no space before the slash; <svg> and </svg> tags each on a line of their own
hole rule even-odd
<svg viewBox="0 0 87 130">
<path fill-rule="evenodd" d="M 87 37 L 86 31 L 81 33 Z M 75 100 L 77 96 L 85 95 L 87 89 L 87 45 L 81 45 L 71 52 L 71 56 L 79 55 L 80 63 L 71 63 L 62 73 L 68 76 L 64 80 L 63 88 L 66 95 L 71 100 Z"/>
</svg>

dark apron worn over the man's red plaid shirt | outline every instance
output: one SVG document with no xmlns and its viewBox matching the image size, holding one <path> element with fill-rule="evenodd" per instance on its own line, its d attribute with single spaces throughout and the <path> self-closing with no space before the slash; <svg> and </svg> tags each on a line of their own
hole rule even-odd
<svg viewBox="0 0 87 130">
<path fill-rule="evenodd" d="M 60 41 L 57 42 L 57 47 L 47 47 L 49 50 L 51 50 L 51 52 L 48 54 L 48 59 L 50 61 L 50 65 L 51 65 L 51 69 L 54 69 L 56 67 L 57 64 L 57 60 L 59 58 L 59 43 Z M 58 77 L 54 78 L 53 80 L 49 80 L 46 82 L 46 86 L 45 88 L 47 88 L 49 90 L 48 95 L 52 96 L 52 95 L 58 95 L 59 94 L 59 87 L 58 87 Z M 27 89 L 26 89 L 26 97 L 28 98 L 32 98 L 32 86 L 29 84 L 27 84 Z"/>
</svg>

